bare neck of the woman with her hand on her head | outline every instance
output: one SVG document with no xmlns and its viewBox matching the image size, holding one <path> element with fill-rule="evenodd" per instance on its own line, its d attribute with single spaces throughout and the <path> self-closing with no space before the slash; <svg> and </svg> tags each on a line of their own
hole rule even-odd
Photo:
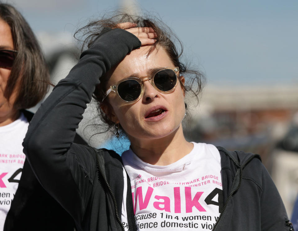
<svg viewBox="0 0 298 231">
<path fill-rule="evenodd" d="M 185 140 L 182 126 L 159 139 L 130 138 L 131 149 L 144 162 L 165 166 L 172 164 L 191 152 L 193 144 Z"/>
</svg>

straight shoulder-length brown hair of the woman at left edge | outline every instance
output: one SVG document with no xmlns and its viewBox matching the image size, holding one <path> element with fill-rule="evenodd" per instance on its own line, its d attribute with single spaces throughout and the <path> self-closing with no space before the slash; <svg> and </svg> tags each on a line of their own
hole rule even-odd
<svg viewBox="0 0 298 231">
<path fill-rule="evenodd" d="M 14 49 L 18 51 L 4 96 L 9 99 L 17 90 L 14 108 L 31 108 L 43 99 L 50 82 L 43 53 L 29 24 L 16 8 L 0 3 L 0 19 L 10 26 Z"/>
</svg>

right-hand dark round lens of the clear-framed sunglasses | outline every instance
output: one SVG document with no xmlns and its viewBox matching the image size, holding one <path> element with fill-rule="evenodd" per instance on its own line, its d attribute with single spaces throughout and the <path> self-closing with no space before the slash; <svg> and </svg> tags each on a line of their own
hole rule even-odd
<svg viewBox="0 0 298 231">
<path fill-rule="evenodd" d="M 176 74 L 171 69 L 157 72 L 154 76 L 154 84 L 160 91 L 172 90 L 177 82 Z"/>
</svg>

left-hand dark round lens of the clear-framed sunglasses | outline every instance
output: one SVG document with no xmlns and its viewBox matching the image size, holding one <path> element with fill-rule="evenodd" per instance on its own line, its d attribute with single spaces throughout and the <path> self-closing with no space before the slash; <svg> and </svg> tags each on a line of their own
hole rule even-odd
<svg viewBox="0 0 298 231">
<path fill-rule="evenodd" d="M 141 85 L 138 81 L 129 79 L 121 82 L 117 88 L 119 96 L 125 101 L 138 99 L 141 94 Z"/>
</svg>

